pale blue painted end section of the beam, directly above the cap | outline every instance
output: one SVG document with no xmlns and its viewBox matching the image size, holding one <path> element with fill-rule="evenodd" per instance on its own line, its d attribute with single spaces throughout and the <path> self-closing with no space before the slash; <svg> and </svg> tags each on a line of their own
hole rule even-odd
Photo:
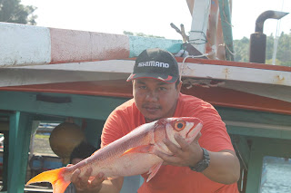
<svg viewBox="0 0 291 193">
<path fill-rule="evenodd" d="M 161 48 L 170 53 L 178 53 L 182 49 L 182 40 L 167 40 L 164 38 L 140 37 L 129 35 L 129 57 L 136 57 L 147 48 Z"/>
</svg>

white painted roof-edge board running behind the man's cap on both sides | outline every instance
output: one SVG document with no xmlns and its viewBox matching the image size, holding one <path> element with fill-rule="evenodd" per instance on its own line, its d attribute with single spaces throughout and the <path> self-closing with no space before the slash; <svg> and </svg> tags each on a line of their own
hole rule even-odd
<svg viewBox="0 0 291 193">
<path fill-rule="evenodd" d="M 182 62 L 183 58 L 176 58 Z M 133 60 L 108 60 L 85 63 L 59 63 L 0 70 L 0 87 L 54 82 L 86 82 L 126 79 Z M 179 63 L 182 65 L 183 63 Z M 195 79 L 226 80 L 291 86 L 291 68 L 258 63 L 186 59 L 183 76 Z M 11 77 L 15 77 L 12 79 Z M 33 79 L 31 77 L 34 77 Z M 229 84 L 230 85 L 230 84 Z M 252 86 L 256 88 L 256 86 Z M 252 88 L 251 87 L 251 88 Z M 245 92 L 246 87 L 234 88 Z M 252 92 L 252 93 L 256 93 Z"/>
</svg>

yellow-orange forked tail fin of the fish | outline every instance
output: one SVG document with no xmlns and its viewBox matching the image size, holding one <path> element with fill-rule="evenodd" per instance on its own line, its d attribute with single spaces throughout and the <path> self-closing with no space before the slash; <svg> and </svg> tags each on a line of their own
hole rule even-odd
<svg viewBox="0 0 291 193">
<path fill-rule="evenodd" d="M 65 168 L 53 169 L 38 174 L 35 178 L 30 179 L 26 185 L 36 182 L 50 182 L 53 186 L 54 193 L 64 193 L 65 188 L 71 183 L 70 180 L 64 179 Z"/>
</svg>

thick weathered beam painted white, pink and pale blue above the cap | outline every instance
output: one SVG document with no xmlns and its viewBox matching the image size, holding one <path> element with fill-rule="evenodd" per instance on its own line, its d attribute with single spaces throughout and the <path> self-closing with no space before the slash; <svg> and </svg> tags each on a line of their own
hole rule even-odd
<svg viewBox="0 0 291 193">
<path fill-rule="evenodd" d="M 147 48 L 170 53 L 181 40 L 55 29 L 0 23 L 0 67 L 45 63 L 79 63 L 136 57 Z"/>
</svg>

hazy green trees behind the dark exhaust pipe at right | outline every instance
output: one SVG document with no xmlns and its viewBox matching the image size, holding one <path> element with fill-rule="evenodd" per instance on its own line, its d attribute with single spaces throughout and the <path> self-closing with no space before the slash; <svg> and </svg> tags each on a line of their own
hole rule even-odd
<svg viewBox="0 0 291 193">
<path fill-rule="evenodd" d="M 273 34 L 266 36 L 266 63 L 272 64 L 274 51 Z M 247 63 L 249 59 L 249 38 L 243 37 L 241 40 L 234 40 L 235 61 Z M 282 32 L 278 37 L 276 52 L 276 65 L 291 67 L 291 30 L 289 34 Z"/>
</svg>

